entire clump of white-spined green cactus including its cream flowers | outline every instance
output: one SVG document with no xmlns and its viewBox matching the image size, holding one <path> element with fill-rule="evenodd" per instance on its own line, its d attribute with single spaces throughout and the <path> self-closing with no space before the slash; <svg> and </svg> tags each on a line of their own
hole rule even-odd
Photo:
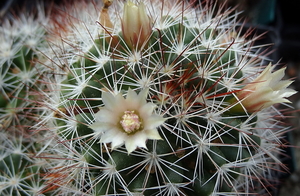
<svg viewBox="0 0 300 196">
<path fill-rule="evenodd" d="M 268 193 L 289 130 L 275 106 L 295 91 L 234 10 L 40 13 L 1 27 L 2 195 Z"/>
</svg>

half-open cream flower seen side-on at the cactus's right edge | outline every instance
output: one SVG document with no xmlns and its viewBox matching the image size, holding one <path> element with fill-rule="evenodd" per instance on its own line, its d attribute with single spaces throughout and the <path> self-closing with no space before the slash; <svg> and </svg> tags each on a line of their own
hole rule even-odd
<svg viewBox="0 0 300 196">
<path fill-rule="evenodd" d="M 289 103 L 286 99 L 296 91 L 287 88 L 293 81 L 282 80 L 285 68 L 273 72 L 275 66 L 269 64 L 265 70 L 251 83 L 236 94 L 239 102 L 233 110 L 247 109 L 257 112 L 276 103 Z"/>
</svg>

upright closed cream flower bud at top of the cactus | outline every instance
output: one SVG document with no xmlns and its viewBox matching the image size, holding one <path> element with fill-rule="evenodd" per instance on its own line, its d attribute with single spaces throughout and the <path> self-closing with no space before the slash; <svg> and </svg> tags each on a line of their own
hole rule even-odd
<svg viewBox="0 0 300 196">
<path fill-rule="evenodd" d="M 122 33 L 131 49 L 140 49 L 147 42 L 152 32 L 151 21 L 143 2 L 138 5 L 127 1 L 124 5 Z"/>
</svg>

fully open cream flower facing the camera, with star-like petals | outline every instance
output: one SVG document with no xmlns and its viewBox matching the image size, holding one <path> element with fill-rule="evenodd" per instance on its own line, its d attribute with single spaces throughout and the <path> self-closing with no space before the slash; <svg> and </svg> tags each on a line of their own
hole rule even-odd
<svg viewBox="0 0 300 196">
<path fill-rule="evenodd" d="M 137 147 L 146 148 L 147 139 L 161 139 L 157 127 L 165 119 L 154 114 L 155 104 L 146 102 L 148 89 L 136 94 L 129 89 L 126 99 L 121 93 L 103 92 L 104 107 L 95 114 L 90 126 L 101 134 L 100 142 L 111 143 L 112 149 L 125 143 L 128 154 Z"/>
</svg>

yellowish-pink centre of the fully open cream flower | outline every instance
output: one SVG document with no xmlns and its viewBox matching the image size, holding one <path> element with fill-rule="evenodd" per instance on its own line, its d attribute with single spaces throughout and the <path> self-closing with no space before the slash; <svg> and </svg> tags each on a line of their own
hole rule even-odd
<svg viewBox="0 0 300 196">
<path fill-rule="evenodd" d="M 134 133 L 142 127 L 140 117 L 134 111 L 125 111 L 120 124 L 127 134 Z"/>
</svg>

